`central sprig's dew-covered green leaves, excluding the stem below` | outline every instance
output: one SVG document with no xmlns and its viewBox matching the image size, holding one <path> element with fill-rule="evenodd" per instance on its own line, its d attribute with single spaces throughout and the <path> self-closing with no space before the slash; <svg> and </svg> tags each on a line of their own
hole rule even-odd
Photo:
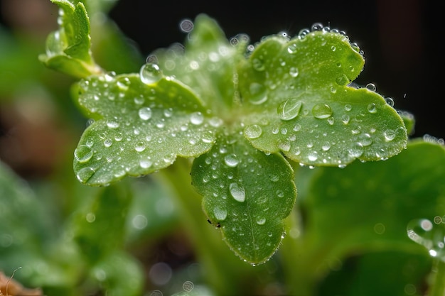
<svg viewBox="0 0 445 296">
<path fill-rule="evenodd" d="M 159 50 L 152 56 L 156 63 L 141 67 L 139 75 L 105 73 L 80 81 L 80 105 L 96 121 L 75 150 L 74 168 L 80 182 L 107 185 L 125 175 L 166 168 L 178 156 L 203 155 L 192 176 L 205 197 L 205 212 L 224 220 L 225 241 L 245 261 L 257 264 L 278 248 L 282 220 L 296 197 L 296 190 L 283 192 L 286 202 L 279 211 L 272 201 L 254 207 L 265 198 L 258 196 L 264 180 L 252 177 L 254 170 L 282 170 L 284 180 L 292 179 L 286 160 L 267 155 L 344 166 L 357 158 L 396 155 L 406 146 L 407 133 L 379 94 L 347 86 L 364 60 L 344 35 L 313 31 L 292 40 L 276 35 L 247 51 L 245 40 L 230 45 L 215 21 L 202 15 L 183 53 Z M 254 157 L 258 168 L 245 157 L 255 151 L 240 133 L 262 151 Z M 204 165 L 202 159 L 210 155 L 213 165 Z M 274 168 L 272 163 L 282 164 Z M 225 172 L 221 177 L 229 181 L 216 180 L 214 170 Z M 204 175 L 204 181 L 195 175 Z M 220 190 L 215 191 L 218 183 L 201 184 L 210 177 Z M 269 185 L 266 192 L 276 194 L 279 186 Z M 242 213 L 248 218 L 238 216 Z M 270 228 L 257 226 L 263 219 Z M 257 243 L 264 239 L 267 243 Z"/>
</svg>

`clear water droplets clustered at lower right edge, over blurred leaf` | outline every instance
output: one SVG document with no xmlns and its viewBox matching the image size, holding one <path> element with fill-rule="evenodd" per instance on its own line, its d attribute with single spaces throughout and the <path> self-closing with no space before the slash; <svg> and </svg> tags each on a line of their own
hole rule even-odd
<svg viewBox="0 0 445 296">
<path fill-rule="evenodd" d="M 428 249 L 429 255 L 445 262 L 445 216 L 414 219 L 407 225 L 409 239 Z"/>
</svg>

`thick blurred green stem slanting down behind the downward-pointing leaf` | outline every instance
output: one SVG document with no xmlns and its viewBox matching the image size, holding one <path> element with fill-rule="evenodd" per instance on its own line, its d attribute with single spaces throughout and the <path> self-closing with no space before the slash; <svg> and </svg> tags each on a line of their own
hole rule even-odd
<svg viewBox="0 0 445 296">
<path fill-rule="evenodd" d="M 208 224 L 202 197 L 191 186 L 190 169 L 189 160 L 178 158 L 154 177 L 159 177 L 177 202 L 183 226 L 215 294 L 236 295 L 243 275 L 250 273 L 247 268 L 252 267 L 242 264 L 227 248 L 215 226 Z"/>
</svg>

